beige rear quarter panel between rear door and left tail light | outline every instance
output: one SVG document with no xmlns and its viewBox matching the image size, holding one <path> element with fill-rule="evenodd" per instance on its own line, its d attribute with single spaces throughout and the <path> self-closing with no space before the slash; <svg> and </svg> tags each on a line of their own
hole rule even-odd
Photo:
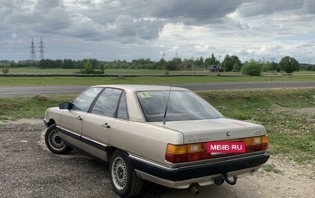
<svg viewBox="0 0 315 198">
<path fill-rule="evenodd" d="M 129 154 L 169 166 L 165 161 L 167 143 L 182 144 L 181 132 L 151 123 L 117 119 L 111 131 L 111 145 Z"/>
</svg>

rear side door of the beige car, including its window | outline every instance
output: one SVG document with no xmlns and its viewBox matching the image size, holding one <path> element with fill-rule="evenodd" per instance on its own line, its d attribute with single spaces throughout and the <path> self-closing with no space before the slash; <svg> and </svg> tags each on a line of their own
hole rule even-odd
<svg viewBox="0 0 315 198">
<path fill-rule="evenodd" d="M 84 117 L 82 148 L 100 159 L 107 159 L 106 150 L 110 143 L 111 130 L 117 117 L 117 105 L 122 93 L 120 89 L 106 88 Z"/>
</svg>

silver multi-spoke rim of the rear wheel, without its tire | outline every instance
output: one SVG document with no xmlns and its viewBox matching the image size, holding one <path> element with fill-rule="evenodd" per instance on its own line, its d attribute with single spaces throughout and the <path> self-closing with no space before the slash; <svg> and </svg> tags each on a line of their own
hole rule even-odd
<svg viewBox="0 0 315 198">
<path fill-rule="evenodd" d="M 117 157 L 112 165 L 113 184 L 118 190 L 122 190 L 127 184 L 127 167 L 124 159 Z"/>
</svg>

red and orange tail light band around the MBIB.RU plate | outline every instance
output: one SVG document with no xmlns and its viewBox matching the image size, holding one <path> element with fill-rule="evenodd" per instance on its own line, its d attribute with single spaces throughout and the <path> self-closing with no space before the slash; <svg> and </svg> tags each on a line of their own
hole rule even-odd
<svg viewBox="0 0 315 198">
<path fill-rule="evenodd" d="M 267 135 L 258 137 L 248 137 L 243 139 L 231 139 L 229 141 L 243 141 L 246 145 L 246 152 L 255 152 L 259 150 L 266 150 L 268 148 Z M 215 157 L 222 157 L 222 155 L 235 155 L 220 154 L 207 152 L 207 142 L 205 143 L 187 143 L 183 145 L 167 144 L 166 147 L 166 161 L 171 163 L 182 163 L 187 161 L 198 161 L 202 159 L 211 159 Z"/>
</svg>

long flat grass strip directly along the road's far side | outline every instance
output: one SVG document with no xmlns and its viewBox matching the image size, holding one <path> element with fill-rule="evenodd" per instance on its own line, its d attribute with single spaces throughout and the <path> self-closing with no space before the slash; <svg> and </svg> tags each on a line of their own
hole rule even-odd
<svg viewBox="0 0 315 198">
<path fill-rule="evenodd" d="M 225 83 L 245 81 L 270 81 L 271 77 L 222 77 L 182 76 L 182 77 L 0 77 L 0 86 L 90 86 L 96 84 L 177 84 L 177 83 Z M 315 75 L 293 75 L 272 77 L 272 81 L 315 81 Z"/>
</svg>

